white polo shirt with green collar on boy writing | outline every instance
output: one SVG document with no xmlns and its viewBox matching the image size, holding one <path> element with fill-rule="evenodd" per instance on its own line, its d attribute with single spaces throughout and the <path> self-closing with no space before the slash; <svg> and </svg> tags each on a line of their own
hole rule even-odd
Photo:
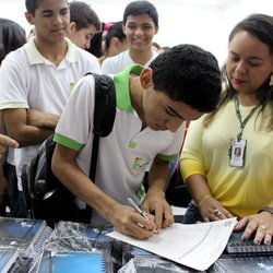
<svg viewBox="0 0 273 273">
<path fill-rule="evenodd" d="M 140 203 L 145 167 L 155 156 L 173 161 L 180 151 L 185 124 L 177 132 L 142 128 L 130 99 L 129 74 L 140 74 L 143 67 L 132 66 L 114 76 L 117 111 L 111 133 L 100 139 L 96 186 L 122 204 L 130 197 Z M 56 128 L 55 141 L 79 151 L 78 164 L 88 176 L 93 143 L 94 79 L 82 79 L 74 88 Z M 78 110 L 81 109 L 81 112 Z M 78 200 L 79 201 L 79 200 Z M 79 204 L 84 207 L 83 202 Z M 107 223 L 93 211 L 93 224 Z"/>
</svg>

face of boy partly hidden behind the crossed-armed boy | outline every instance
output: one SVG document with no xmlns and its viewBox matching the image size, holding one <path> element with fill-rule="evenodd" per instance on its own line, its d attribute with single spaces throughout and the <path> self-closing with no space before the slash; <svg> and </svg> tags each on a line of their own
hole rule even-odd
<svg viewBox="0 0 273 273">
<path fill-rule="evenodd" d="M 96 27 L 90 25 L 81 29 L 76 29 L 75 23 L 71 22 L 68 31 L 68 38 L 70 38 L 76 46 L 88 49 L 91 46 L 91 40 L 96 33 Z"/>
</svg>

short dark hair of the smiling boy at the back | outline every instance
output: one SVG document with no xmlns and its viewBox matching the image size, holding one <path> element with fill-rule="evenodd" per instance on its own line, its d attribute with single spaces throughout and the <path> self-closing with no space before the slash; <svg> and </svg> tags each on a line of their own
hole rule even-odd
<svg viewBox="0 0 273 273">
<path fill-rule="evenodd" d="M 129 15 L 143 14 L 150 15 L 153 19 L 155 26 L 158 26 L 158 13 L 156 8 L 149 1 L 133 1 L 129 3 L 123 12 L 123 25 L 126 25 Z"/>
</svg>

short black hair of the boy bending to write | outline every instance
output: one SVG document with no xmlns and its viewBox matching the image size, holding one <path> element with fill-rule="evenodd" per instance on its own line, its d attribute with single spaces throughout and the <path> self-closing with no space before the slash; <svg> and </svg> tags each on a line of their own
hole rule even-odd
<svg viewBox="0 0 273 273">
<path fill-rule="evenodd" d="M 158 55 L 150 64 L 154 88 L 173 100 L 201 112 L 218 104 L 222 84 L 216 58 L 193 45 L 178 45 Z"/>
</svg>

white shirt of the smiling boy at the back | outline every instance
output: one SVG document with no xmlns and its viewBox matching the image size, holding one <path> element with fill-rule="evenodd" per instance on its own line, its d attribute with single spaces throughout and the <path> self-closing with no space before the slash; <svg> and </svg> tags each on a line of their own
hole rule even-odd
<svg viewBox="0 0 273 273">
<path fill-rule="evenodd" d="M 158 54 L 153 51 L 152 58 L 144 64 L 144 67 L 145 68 L 149 67 L 149 64 L 157 56 L 158 56 Z M 129 50 L 126 50 L 119 55 L 107 58 L 102 64 L 102 72 L 104 74 L 117 74 L 133 63 L 134 63 L 134 61 L 130 57 Z"/>
</svg>

